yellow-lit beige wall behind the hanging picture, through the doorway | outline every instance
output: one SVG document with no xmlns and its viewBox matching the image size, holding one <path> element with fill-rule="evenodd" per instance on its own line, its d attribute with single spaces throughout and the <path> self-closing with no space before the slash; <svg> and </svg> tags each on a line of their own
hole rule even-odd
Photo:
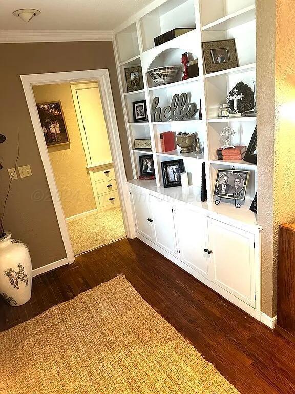
<svg viewBox="0 0 295 394">
<path fill-rule="evenodd" d="M 33 86 L 36 103 L 61 101 L 71 143 L 48 147 L 66 218 L 96 208 L 70 84 Z"/>
</svg>

